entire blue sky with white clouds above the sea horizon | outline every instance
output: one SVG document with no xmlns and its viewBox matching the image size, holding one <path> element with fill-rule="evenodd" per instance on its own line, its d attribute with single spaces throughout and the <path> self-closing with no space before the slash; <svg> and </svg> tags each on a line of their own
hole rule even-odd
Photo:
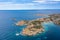
<svg viewBox="0 0 60 40">
<path fill-rule="evenodd" d="M 60 9 L 60 0 L 0 0 L 0 10 Z"/>
</svg>

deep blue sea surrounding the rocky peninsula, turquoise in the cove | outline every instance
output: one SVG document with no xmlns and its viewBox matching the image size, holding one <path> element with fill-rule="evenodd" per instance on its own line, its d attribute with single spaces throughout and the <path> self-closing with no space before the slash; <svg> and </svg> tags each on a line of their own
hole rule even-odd
<svg viewBox="0 0 60 40">
<path fill-rule="evenodd" d="M 44 23 L 47 30 L 44 34 L 38 36 L 16 36 L 16 33 L 22 31 L 25 26 L 19 27 L 14 23 L 19 20 L 33 20 L 41 18 L 34 14 L 53 14 L 60 13 L 60 9 L 50 10 L 0 10 L 0 40 L 60 40 L 60 26 L 53 23 Z M 15 18 L 16 21 L 12 20 Z"/>
</svg>

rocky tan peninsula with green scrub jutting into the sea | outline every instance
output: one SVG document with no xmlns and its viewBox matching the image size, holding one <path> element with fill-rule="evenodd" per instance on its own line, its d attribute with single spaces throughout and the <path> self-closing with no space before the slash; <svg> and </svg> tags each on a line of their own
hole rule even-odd
<svg viewBox="0 0 60 40">
<path fill-rule="evenodd" d="M 46 18 L 38 18 L 35 20 L 21 20 L 16 23 L 17 26 L 27 25 L 26 28 L 22 30 L 23 35 L 36 35 L 38 33 L 43 33 L 45 31 L 44 27 L 42 26 L 43 22 L 53 22 L 57 25 L 60 25 L 60 14 L 51 14 L 48 15 L 49 17 Z"/>
</svg>

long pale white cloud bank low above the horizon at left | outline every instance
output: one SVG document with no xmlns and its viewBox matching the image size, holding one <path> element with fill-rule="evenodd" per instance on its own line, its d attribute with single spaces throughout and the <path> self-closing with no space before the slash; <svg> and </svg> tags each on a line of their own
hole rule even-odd
<svg viewBox="0 0 60 40">
<path fill-rule="evenodd" d="M 14 4 L 14 3 L 0 3 L 0 10 L 20 10 L 20 9 L 33 9 L 33 3 Z"/>
</svg>

